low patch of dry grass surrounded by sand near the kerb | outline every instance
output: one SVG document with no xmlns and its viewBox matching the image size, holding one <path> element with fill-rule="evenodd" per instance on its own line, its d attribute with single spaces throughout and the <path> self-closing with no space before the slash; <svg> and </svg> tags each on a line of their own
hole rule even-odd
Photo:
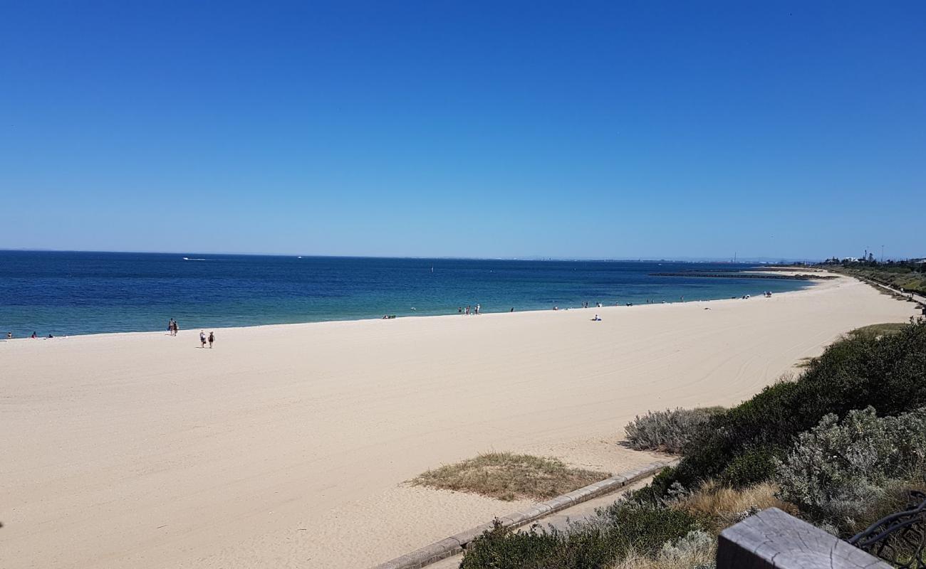
<svg viewBox="0 0 926 569">
<path fill-rule="evenodd" d="M 436 489 L 473 492 L 512 501 L 549 500 L 611 476 L 569 468 L 555 458 L 487 452 L 457 464 L 446 464 L 416 476 L 411 483 Z"/>
</svg>

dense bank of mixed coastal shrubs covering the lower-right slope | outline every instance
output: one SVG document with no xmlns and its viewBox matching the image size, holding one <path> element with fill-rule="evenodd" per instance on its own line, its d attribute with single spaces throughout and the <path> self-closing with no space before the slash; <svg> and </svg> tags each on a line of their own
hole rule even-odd
<svg viewBox="0 0 926 569">
<path fill-rule="evenodd" d="M 565 531 L 496 526 L 461 567 L 706 569 L 720 531 L 771 506 L 852 536 L 926 489 L 926 323 L 860 328 L 803 376 L 706 420 L 704 411 L 628 426 L 640 448 L 681 448 L 681 463 L 643 489 Z"/>
</svg>

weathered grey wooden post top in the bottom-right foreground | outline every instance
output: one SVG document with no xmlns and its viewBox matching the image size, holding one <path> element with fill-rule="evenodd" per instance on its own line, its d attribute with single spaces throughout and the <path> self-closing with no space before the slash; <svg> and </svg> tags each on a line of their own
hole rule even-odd
<svg viewBox="0 0 926 569">
<path fill-rule="evenodd" d="M 859 550 L 784 513 L 769 508 L 723 530 L 717 569 L 891 569 Z"/>
</svg>

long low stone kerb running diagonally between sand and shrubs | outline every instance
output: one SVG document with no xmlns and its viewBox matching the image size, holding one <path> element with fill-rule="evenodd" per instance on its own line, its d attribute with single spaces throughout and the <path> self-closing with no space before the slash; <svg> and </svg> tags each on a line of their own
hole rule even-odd
<svg viewBox="0 0 926 569">
<path fill-rule="evenodd" d="M 583 501 L 589 501 L 593 498 L 604 496 L 605 494 L 609 494 L 629 484 L 632 484 L 641 478 L 653 476 L 663 468 L 666 468 L 667 466 L 674 466 L 675 464 L 678 464 L 678 461 L 646 464 L 645 466 L 641 466 L 640 468 L 633 470 L 628 470 L 617 476 L 611 476 L 610 478 L 606 478 L 601 482 L 589 484 L 584 488 L 572 490 L 568 494 L 557 496 L 553 500 L 534 504 L 526 510 L 509 513 L 508 515 L 498 519 L 501 521 L 502 526 L 505 527 L 515 528 L 519 526 L 526 526 L 527 524 L 530 524 L 531 522 L 536 521 L 550 513 L 559 512 L 560 510 L 565 510 L 566 508 L 574 506 L 575 504 L 582 503 Z M 492 527 L 492 522 L 489 522 L 488 524 L 482 524 L 482 526 L 472 527 L 466 531 L 462 531 L 456 535 L 450 536 L 449 538 L 436 541 L 431 545 L 425 546 L 419 550 L 414 550 L 410 553 L 406 553 L 401 557 L 396 557 L 392 561 L 376 565 L 371 569 L 420 569 L 425 565 L 437 563 L 444 558 L 450 557 L 451 555 L 457 555 L 457 553 L 461 552 L 470 541 L 482 536 L 482 532 L 487 529 L 492 529 Z"/>
</svg>

